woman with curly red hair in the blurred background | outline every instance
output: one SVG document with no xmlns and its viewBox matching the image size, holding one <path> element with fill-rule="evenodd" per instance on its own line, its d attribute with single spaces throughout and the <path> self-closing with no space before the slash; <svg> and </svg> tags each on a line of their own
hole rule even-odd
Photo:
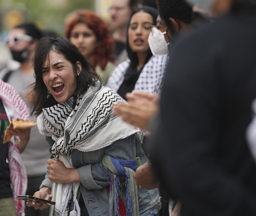
<svg viewBox="0 0 256 216">
<path fill-rule="evenodd" d="M 78 10 L 66 22 L 65 34 L 91 65 L 106 85 L 115 65 L 111 38 L 107 24 L 89 10 Z"/>
</svg>

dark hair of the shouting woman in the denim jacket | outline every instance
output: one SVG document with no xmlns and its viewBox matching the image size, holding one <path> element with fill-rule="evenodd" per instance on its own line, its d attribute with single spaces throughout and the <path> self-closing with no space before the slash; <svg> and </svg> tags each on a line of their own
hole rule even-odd
<svg viewBox="0 0 256 216">
<path fill-rule="evenodd" d="M 76 104 L 77 95 L 86 92 L 90 86 L 95 86 L 97 79 L 100 80 L 98 74 L 91 69 L 92 67 L 90 63 L 83 57 L 74 44 L 71 44 L 61 37 L 42 37 L 37 43 L 33 58 L 35 83 L 33 89 L 34 106 L 31 109 L 31 115 L 35 113 L 35 115 L 38 116 L 42 112 L 42 108 L 45 106 L 47 98 L 51 96 L 42 77 L 42 67 L 44 63 L 48 62 L 47 67 L 50 67 L 49 53 L 51 50 L 59 53 L 66 60 L 70 61 L 73 70 L 75 71 L 77 88 L 73 94 L 75 98 L 73 106 Z M 77 61 L 81 62 L 82 66 L 79 76 L 77 75 Z"/>
</svg>

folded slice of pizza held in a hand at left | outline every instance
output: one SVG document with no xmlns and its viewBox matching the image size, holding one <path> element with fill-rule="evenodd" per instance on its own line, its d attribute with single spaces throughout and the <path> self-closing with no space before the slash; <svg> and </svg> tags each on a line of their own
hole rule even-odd
<svg viewBox="0 0 256 216">
<path fill-rule="evenodd" d="M 6 142 L 9 142 L 13 134 L 9 132 L 10 126 L 13 126 L 14 129 L 28 129 L 32 128 L 33 126 L 37 125 L 37 123 L 29 120 L 23 120 L 23 119 L 17 119 L 17 120 L 12 120 L 11 123 L 7 126 L 5 130 L 5 134 L 3 137 L 3 144 Z"/>
</svg>

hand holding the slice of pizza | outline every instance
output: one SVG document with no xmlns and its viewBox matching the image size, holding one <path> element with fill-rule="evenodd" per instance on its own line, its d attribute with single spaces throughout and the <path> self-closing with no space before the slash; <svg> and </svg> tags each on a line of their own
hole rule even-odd
<svg viewBox="0 0 256 216">
<path fill-rule="evenodd" d="M 9 132 L 12 133 L 13 135 L 16 135 L 19 137 L 19 139 L 17 141 L 17 146 L 18 146 L 20 153 L 22 153 L 22 151 L 25 149 L 25 147 L 30 139 L 30 128 L 29 129 L 10 128 Z"/>
</svg>

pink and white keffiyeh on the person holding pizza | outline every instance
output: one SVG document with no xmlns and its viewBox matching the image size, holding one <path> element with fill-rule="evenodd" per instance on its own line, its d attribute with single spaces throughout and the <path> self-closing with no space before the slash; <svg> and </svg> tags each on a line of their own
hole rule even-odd
<svg viewBox="0 0 256 216">
<path fill-rule="evenodd" d="M 0 98 L 9 118 L 29 118 L 27 105 L 19 96 L 14 87 L 0 79 Z M 16 213 L 19 216 L 25 215 L 25 202 L 16 199 L 17 195 L 23 195 L 27 189 L 27 175 L 25 166 L 22 163 L 21 155 L 17 147 L 17 137 L 13 136 L 9 141 L 9 167 L 11 173 L 11 184 L 16 204 Z"/>
</svg>

